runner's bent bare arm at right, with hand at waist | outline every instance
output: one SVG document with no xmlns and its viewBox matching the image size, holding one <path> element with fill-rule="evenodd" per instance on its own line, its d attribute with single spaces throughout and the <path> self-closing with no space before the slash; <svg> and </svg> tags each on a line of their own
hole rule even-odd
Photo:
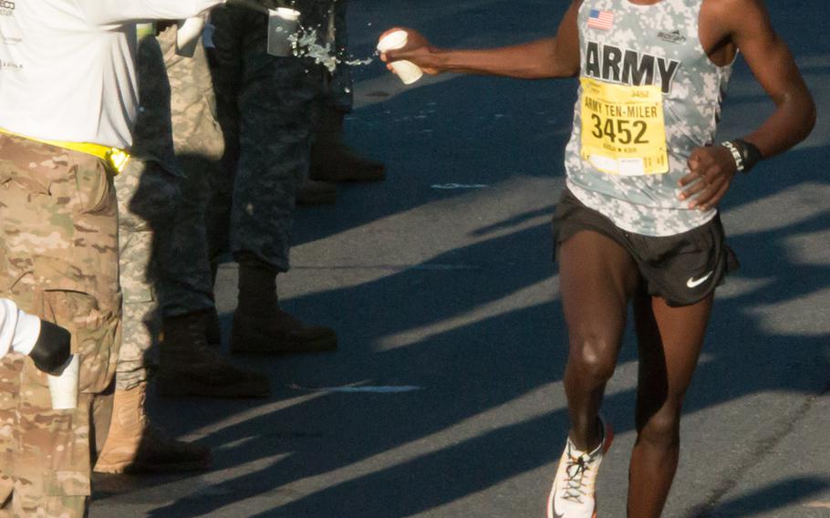
<svg viewBox="0 0 830 518">
<path fill-rule="evenodd" d="M 742 138 L 755 146 L 763 158 L 789 150 L 804 140 L 815 124 L 815 105 L 793 55 L 775 33 L 761 0 L 711 2 L 714 41 L 725 41 L 740 49 L 755 78 L 776 109 L 761 127 Z M 689 159 L 690 173 L 680 180 L 688 186 L 680 199 L 690 207 L 706 210 L 718 204 L 729 189 L 736 164 L 722 146 L 699 148 Z M 703 181 L 699 181 L 703 180 Z"/>
</svg>

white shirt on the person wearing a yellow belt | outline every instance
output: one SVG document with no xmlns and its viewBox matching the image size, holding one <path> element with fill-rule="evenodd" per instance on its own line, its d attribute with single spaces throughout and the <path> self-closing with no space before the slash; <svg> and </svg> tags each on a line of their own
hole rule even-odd
<svg viewBox="0 0 830 518">
<path fill-rule="evenodd" d="M 135 22 L 225 0 L 0 2 L 0 128 L 128 148 L 138 107 Z"/>
</svg>

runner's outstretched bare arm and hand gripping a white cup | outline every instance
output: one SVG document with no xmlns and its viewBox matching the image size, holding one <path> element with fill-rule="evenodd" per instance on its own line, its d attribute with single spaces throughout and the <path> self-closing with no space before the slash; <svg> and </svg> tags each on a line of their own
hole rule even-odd
<svg viewBox="0 0 830 518">
<path fill-rule="evenodd" d="M 406 59 L 433 75 L 460 72 L 524 79 L 570 78 L 579 72 L 576 14 L 581 2 L 573 0 L 555 37 L 510 47 L 456 50 L 433 47 L 418 31 L 404 28 L 409 35 L 407 46 L 382 53 L 380 58 L 388 63 Z M 383 36 L 399 28 L 389 29 Z"/>
</svg>

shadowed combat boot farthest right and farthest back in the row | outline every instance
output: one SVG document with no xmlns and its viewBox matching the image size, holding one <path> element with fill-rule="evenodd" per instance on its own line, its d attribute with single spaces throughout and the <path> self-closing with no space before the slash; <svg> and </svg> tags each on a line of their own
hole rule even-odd
<svg viewBox="0 0 830 518">
<path fill-rule="evenodd" d="M 382 181 L 386 167 L 379 161 L 358 156 L 343 141 L 343 118 L 338 109 L 327 109 L 316 141 L 311 148 L 312 180 L 318 181 Z"/>
</svg>

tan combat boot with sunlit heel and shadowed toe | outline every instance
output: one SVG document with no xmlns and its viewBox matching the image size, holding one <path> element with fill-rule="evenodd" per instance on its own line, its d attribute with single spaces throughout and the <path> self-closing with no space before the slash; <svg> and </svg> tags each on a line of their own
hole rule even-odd
<svg viewBox="0 0 830 518">
<path fill-rule="evenodd" d="M 146 383 L 115 391 L 109 434 L 94 471 L 153 473 L 209 468 L 209 448 L 171 439 L 150 423 L 144 413 L 146 392 Z"/>
</svg>

